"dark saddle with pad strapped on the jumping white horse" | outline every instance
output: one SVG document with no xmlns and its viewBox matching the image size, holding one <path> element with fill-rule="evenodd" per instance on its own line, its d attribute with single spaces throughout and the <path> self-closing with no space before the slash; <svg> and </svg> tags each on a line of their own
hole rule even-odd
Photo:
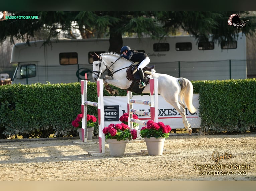
<svg viewBox="0 0 256 191">
<path fill-rule="evenodd" d="M 144 90 L 144 88 L 139 88 L 139 84 L 140 84 L 140 75 L 139 72 L 137 70 L 139 63 L 133 63 L 131 66 L 129 66 L 129 68 L 126 70 L 126 78 L 129 81 L 132 81 L 131 86 L 126 89 L 127 91 L 131 91 L 131 92 L 135 92 L 135 93 L 142 93 L 142 91 Z M 142 71 L 144 72 L 144 81 L 147 84 L 149 84 L 149 80 L 151 78 L 151 71 L 152 69 L 155 68 L 155 65 L 153 66 L 146 66 L 142 69 Z"/>
</svg>

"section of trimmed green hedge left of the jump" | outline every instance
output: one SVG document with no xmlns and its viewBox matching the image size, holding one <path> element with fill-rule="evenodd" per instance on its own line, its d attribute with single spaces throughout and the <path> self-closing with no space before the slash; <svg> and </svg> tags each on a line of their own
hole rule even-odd
<svg viewBox="0 0 256 191">
<path fill-rule="evenodd" d="M 93 83 L 88 84 L 93 95 L 96 93 L 92 86 Z M 81 86 L 80 83 L 0 86 L 0 103 L 2 138 L 49 137 L 52 133 L 76 135 L 71 122 L 81 113 Z"/>
</svg>

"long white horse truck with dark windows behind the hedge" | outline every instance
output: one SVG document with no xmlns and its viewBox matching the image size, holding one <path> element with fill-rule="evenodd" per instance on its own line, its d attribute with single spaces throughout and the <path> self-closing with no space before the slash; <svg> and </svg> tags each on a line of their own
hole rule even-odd
<svg viewBox="0 0 256 191">
<path fill-rule="evenodd" d="M 191 36 L 170 36 L 161 40 L 123 38 L 123 45 L 144 52 L 157 73 L 188 80 L 245 79 L 246 36 L 221 43 L 197 42 Z M 15 44 L 11 64 L 16 64 L 13 83 L 72 83 L 92 80 L 90 54 L 108 52 L 109 39 L 51 40 Z M 113 61 L 114 62 L 114 61 Z"/>
</svg>

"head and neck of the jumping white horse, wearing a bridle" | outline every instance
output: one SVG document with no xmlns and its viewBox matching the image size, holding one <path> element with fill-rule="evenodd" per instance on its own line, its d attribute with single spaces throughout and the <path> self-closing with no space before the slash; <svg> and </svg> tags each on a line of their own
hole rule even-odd
<svg viewBox="0 0 256 191">
<path fill-rule="evenodd" d="M 96 53 L 94 53 L 93 56 L 93 80 L 97 81 L 97 79 L 99 78 L 99 76 L 104 73 L 105 71 L 107 71 L 109 74 L 112 74 L 112 72 L 114 72 L 117 67 L 122 67 L 124 66 L 123 63 L 120 65 L 120 63 L 118 63 L 118 66 L 116 64 L 114 64 L 120 57 L 119 54 L 117 53 L 113 53 L 113 52 L 108 52 L 108 53 L 103 53 L 100 55 L 97 55 Z M 130 61 L 121 58 L 120 60 L 122 60 L 123 62 L 127 62 L 128 65 L 130 65 Z M 116 67 L 117 66 L 117 67 Z"/>
</svg>

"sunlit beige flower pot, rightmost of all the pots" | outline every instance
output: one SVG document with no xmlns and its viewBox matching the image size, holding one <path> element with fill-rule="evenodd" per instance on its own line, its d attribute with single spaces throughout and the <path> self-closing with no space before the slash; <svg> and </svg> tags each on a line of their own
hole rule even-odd
<svg viewBox="0 0 256 191">
<path fill-rule="evenodd" d="M 162 155 L 165 138 L 144 137 L 149 155 Z"/>
</svg>

